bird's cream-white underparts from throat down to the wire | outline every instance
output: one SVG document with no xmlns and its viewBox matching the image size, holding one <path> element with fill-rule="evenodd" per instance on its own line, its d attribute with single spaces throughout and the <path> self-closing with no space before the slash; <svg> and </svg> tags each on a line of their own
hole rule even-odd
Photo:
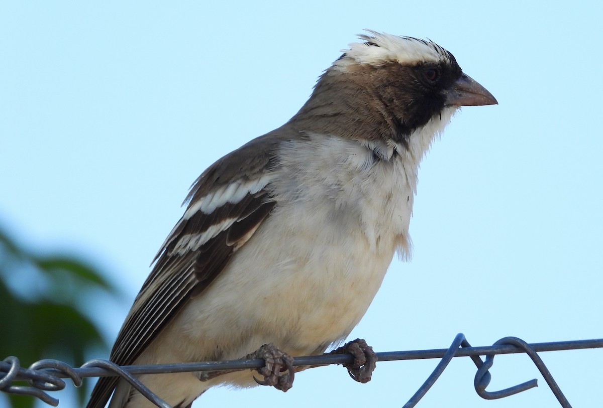
<svg viewBox="0 0 603 408">
<path fill-rule="evenodd" d="M 345 338 L 394 253 L 409 253 L 418 164 L 452 112 L 411 135 L 408 148 L 318 134 L 283 141 L 277 206 L 174 322 L 199 344 L 180 341 L 181 357 L 238 358 L 267 342 L 319 353 Z"/>
</svg>

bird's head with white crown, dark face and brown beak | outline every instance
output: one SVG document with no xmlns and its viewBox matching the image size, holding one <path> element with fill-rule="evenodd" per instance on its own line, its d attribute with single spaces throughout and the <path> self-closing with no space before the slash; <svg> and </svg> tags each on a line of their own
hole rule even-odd
<svg viewBox="0 0 603 408">
<path fill-rule="evenodd" d="M 348 137 L 408 144 L 433 118 L 447 122 L 458 107 L 497 104 L 434 42 L 369 33 L 323 73 L 299 120 L 311 118 L 327 133 L 347 129 Z"/>
</svg>

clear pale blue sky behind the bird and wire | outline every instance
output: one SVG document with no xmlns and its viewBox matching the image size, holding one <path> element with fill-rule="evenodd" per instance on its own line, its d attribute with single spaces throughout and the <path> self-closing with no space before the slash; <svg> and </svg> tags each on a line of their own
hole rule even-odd
<svg viewBox="0 0 603 408">
<path fill-rule="evenodd" d="M 288 120 L 363 28 L 429 37 L 499 105 L 464 108 L 434 143 L 412 261 L 394 261 L 351 337 L 376 351 L 458 332 L 601 338 L 601 17 L 595 1 L 1 2 L 0 223 L 118 282 L 127 303 L 89 301 L 113 339 L 204 168 Z M 599 404 L 603 351 L 541 356 L 573 406 Z M 212 390 L 197 406 L 399 407 L 436 363 L 379 363 L 368 385 L 312 369 L 286 394 Z M 492 373 L 491 390 L 541 379 L 526 356 Z M 474 374 L 453 360 L 418 407 L 557 404 L 543 380 L 482 400 Z"/>
</svg>

